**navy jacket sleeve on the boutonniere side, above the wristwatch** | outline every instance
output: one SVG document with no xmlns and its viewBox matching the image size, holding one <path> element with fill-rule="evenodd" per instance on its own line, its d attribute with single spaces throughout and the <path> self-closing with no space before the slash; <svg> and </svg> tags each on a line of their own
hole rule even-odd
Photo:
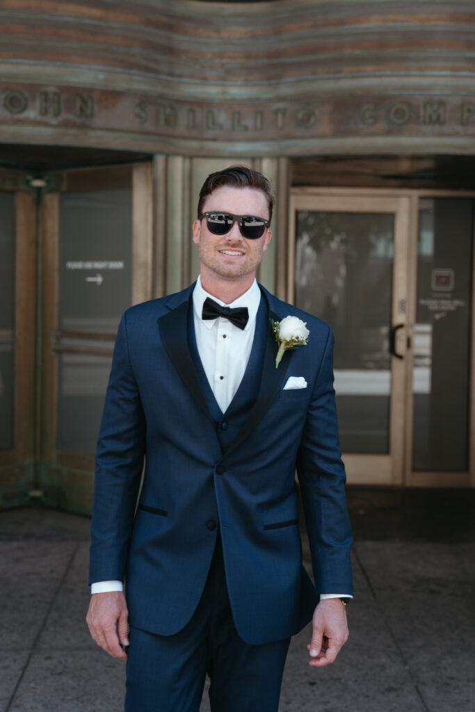
<svg viewBox="0 0 475 712">
<path fill-rule="evenodd" d="M 333 389 L 333 333 L 327 342 L 308 406 L 297 457 L 303 510 L 318 593 L 353 595 L 353 537 L 345 498 L 345 466 L 338 439 Z"/>
</svg>

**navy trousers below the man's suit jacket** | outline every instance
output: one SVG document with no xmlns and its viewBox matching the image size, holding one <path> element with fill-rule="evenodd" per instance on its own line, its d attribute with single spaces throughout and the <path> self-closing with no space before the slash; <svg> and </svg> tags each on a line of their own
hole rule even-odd
<svg viewBox="0 0 475 712">
<path fill-rule="evenodd" d="M 289 643 L 249 645 L 239 637 L 218 535 L 202 598 L 184 629 L 160 636 L 131 627 L 125 712 L 199 712 L 206 674 L 213 712 L 277 712 Z"/>
</svg>

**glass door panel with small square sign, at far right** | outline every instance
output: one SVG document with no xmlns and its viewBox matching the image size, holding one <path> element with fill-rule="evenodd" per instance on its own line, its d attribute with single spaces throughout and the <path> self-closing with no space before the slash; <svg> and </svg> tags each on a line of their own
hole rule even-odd
<svg viewBox="0 0 475 712">
<path fill-rule="evenodd" d="M 466 487 L 475 442 L 470 436 L 475 198 L 420 192 L 414 201 L 407 484 Z"/>
</svg>

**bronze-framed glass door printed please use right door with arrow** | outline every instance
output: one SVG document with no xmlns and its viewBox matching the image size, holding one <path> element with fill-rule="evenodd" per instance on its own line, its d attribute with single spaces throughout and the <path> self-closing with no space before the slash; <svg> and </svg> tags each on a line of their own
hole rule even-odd
<svg viewBox="0 0 475 712">
<path fill-rule="evenodd" d="M 42 204 L 41 491 L 90 512 L 94 451 L 122 312 L 149 299 L 150 164 L 54 174 Z"/>
</svg>

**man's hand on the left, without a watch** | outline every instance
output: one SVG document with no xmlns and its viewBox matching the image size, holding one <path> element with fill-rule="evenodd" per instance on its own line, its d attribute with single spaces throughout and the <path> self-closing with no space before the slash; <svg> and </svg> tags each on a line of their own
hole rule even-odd
<svg viewBox="0 0 475 712">
<path fill-rule="evenodd" d="M 95 642 L 113 658 L 127 660 L 122 646 L 129 644 L 127 622 L 129 612 L 125 596 L 120 591 L 93 593 L 85 622 Z"/>
</svg>

